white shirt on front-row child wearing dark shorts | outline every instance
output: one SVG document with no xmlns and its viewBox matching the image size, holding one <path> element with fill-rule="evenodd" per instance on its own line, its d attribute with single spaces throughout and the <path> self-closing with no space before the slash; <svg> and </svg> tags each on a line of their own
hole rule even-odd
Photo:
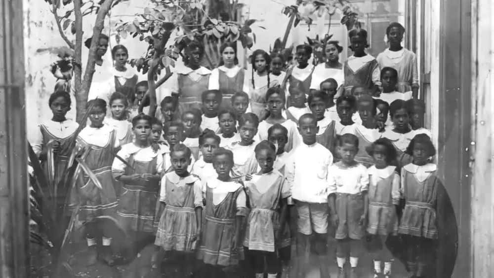
<svg viewBox="0 0 494 278">
<path fill-rule="evenodd" d="M 367 168 L 358 163 L 349 168 L 337 164 L 329 167 L 328 195 L 333 193 L 359 194 L 369 188 Z"/>
</svg>

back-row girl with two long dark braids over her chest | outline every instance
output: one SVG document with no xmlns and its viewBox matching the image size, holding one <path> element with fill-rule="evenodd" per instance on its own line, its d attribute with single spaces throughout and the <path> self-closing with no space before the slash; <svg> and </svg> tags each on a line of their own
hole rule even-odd
<svg viewBox="0 0 494 278">
<path fill-rule="evenodd" d="M 257 49 L 252 53 L 250 60 L 252 64 L 252 77 L 250 78 L 250 108 L 260 120 L 267 114 L 266 92 L 270 87 L 279 85 L 278 79 L 273 78 L 269 73 L 269 63 L 271 57 L 266 51 Z"/>
</svg>

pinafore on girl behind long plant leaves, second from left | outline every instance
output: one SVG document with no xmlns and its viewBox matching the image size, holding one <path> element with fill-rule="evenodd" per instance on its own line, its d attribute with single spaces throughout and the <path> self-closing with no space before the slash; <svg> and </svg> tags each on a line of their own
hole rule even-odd
<svg viewBox="0 0 494 278">
<path fill-rule="evenodd" d="M 81 171 L 78 176 L 79 185 L 79 200 L 81 207 L 79 208 L 79 219 L 82 221 L 90 221 L 97 216 L 112 216 L 116 217 L 117 212 L 117 181 L 112 176 L 112 164 L 114 157 L 114 145 L 117 139 L 115 131 L 110 133 L 110 139 L 104 147 L 88 144 L 83 139 L 79 138 L 79 144 L 89 148 L 87 155 L 83 157 L 89 169 L 96 175 L 103 189 L 99 189 L 89 179 L 89 177 Z M 72 195 L 77 198 L 76 194 Z"/>
</svg>

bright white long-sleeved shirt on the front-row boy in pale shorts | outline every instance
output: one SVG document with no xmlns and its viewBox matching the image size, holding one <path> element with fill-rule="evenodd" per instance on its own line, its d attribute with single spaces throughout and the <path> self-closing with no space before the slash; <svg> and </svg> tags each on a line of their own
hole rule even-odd
<svg viewBox="0 0 494 278">
<path fill-rule="evenodd" d="M 328 169 L 331 152 L 319 143 L 300 144 L 291 154 L 285 168 L 291 197 L 309 203 L 328 203 Z"/>
</svg>

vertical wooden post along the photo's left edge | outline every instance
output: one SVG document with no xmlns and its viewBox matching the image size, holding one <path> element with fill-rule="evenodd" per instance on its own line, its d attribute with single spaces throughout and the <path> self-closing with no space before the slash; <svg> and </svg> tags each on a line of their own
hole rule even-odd
<svg viewBox="0 0 494 278">
<path fill-rule="evenodd" d="M 0 0 L 0 277 L 29 277 L 22 0 Z"/>
</svg>

